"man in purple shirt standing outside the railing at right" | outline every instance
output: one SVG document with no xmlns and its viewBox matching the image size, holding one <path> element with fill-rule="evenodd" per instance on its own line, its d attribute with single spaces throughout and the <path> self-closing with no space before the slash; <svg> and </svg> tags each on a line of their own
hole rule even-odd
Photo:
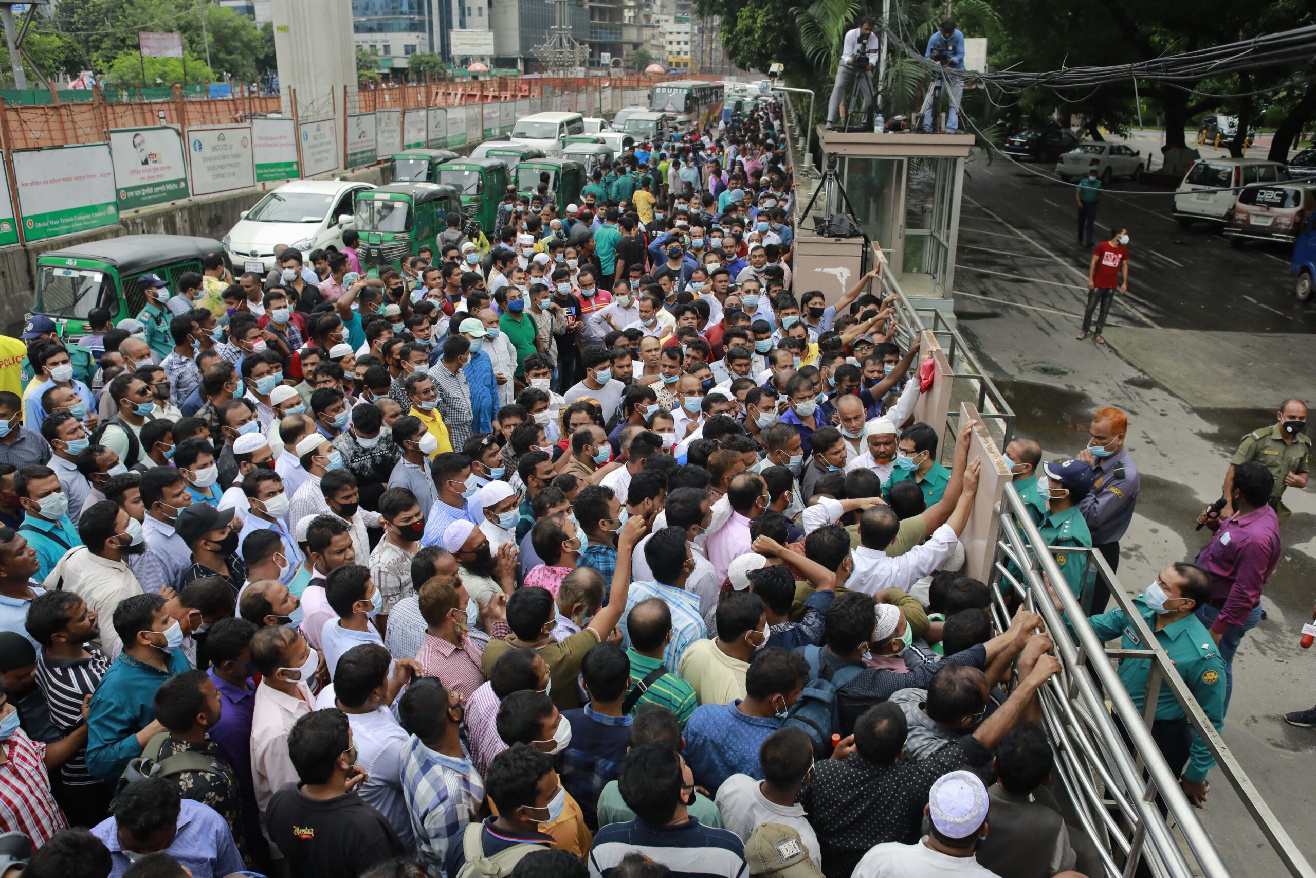
<svg viewBox="0 0 1316 878">
<path fill-rule="evenodd" d="M 1261 621 L 1261 590 L 1279 563 L 1279 517 L 1270 507 L 1275 478 L 1261 463 L 1234 469 L 1229 503 L 1234 513 L 1217 528 L 1198 555 L 1198 566 L 1211 574 L 1211 602 L 1198 617 L 1211 629 L 1225 659 L 1225 710 L 1233 692 L 1233 657 L 1242 636 Z"/>
</svg>

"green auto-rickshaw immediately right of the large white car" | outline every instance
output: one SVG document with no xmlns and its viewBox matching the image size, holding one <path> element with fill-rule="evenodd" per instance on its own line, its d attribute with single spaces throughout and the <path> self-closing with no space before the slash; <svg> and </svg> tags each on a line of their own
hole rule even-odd
<svg viewBox="0 0 1316 878">
<path fill-rule="evenodd" d="M 447 215 L 461 212 L 457 190 L 440 183 L 390 183 L 357 194 L 355 224 L 361 233 L 357 253 L 372 269 L 401 270 L 403 259 L 447 228 Z"/>
</svg>

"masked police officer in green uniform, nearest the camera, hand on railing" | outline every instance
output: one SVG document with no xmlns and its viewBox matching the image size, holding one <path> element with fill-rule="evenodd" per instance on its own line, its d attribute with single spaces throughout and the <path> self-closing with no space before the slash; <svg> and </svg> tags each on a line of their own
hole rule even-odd
<svg viewBox="0 0 1316 878">
<path fill-rule="evenodd" d="M 1207 571 L 1191 563 L 1174 563 L 1161 571 L 1141 598 L 1133 599 L 1133 607 L 1155 632 L 1157 642 L 1174 662 L 1174 670 L 1198 699 L 1198 704 L 1216 727 L 1216 732 L 1220 732 L 1225 723 L 1225 662 L 1207 627 L 1195 615 L 1198 607 L 1204 607 L 1209 599 L 1211 578 Z M 1058 600 L 1055 606 L 1058 609 Z M 1120 637 L 1123 649 L 1144 648 L 1142 640 L 1123 609 L 1088 616 L 1087 621 L 1096 632 L 1098 640 L 1103 642 Z M 1120 659 L 1120 682 L 1124 683 L 1133 706 L 1140 712 L 1150 667 L 1150 658 Z M 1202 806 L 1211 788 L 1207 783 L 1207 771 L 1215 765 L 1215 758 L 1202 738 L 1192 732 L 1183 707 L 1165 684 L 1157 696 L 1152 738 L 1170 765 L 1170 770 L 1179 778 L 1179 786 L 1183 787 L 1188 800 Z"/>
</svg>

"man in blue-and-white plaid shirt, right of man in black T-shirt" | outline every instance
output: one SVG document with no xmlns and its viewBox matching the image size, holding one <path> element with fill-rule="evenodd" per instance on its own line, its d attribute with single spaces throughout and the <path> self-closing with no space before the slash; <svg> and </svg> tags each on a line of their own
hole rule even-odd
<svg viewBox="0 0 1316 878">
<path fill-rule="evenodd" d="M 411 733 L 403 750 L 403 796 L 421 866 L 443 874 L 450 845 L 484 802 L 484 782 L 462 746 L 462 696 L 449 692 L 433 677 L 418 679 L 397 703 L 401 725 Z"/>
</svg>

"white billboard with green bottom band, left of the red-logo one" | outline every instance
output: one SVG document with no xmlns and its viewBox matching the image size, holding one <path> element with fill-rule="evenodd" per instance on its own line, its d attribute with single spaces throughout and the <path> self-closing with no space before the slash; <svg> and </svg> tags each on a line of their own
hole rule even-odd
<svg viewBox="0 0 1316 878">
<path fill-rule="evenodd" d="M 14 151 L 13 176 L 29 242 L 118 222 L 109 143 Z"/>
</svg>

